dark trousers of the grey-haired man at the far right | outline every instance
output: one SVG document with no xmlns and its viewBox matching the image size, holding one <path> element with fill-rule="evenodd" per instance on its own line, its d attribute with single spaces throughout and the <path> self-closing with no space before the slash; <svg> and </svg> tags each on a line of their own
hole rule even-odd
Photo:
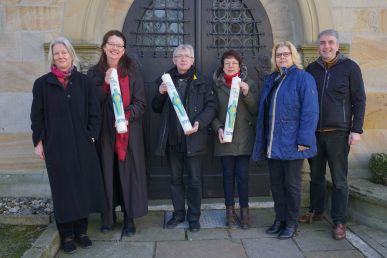
<svg viewBox="0 0 387 258">
<path fill-rule="evenodd" d="M 310 164 L 310 210 L 324 212 L 326 193 L 326 165 L 332 177 L 331 217 L 333 223 L 346 223 L 348 203 L 348 132 L 333 131 L 316 133 L 317 156 Z"/>
</svg>

